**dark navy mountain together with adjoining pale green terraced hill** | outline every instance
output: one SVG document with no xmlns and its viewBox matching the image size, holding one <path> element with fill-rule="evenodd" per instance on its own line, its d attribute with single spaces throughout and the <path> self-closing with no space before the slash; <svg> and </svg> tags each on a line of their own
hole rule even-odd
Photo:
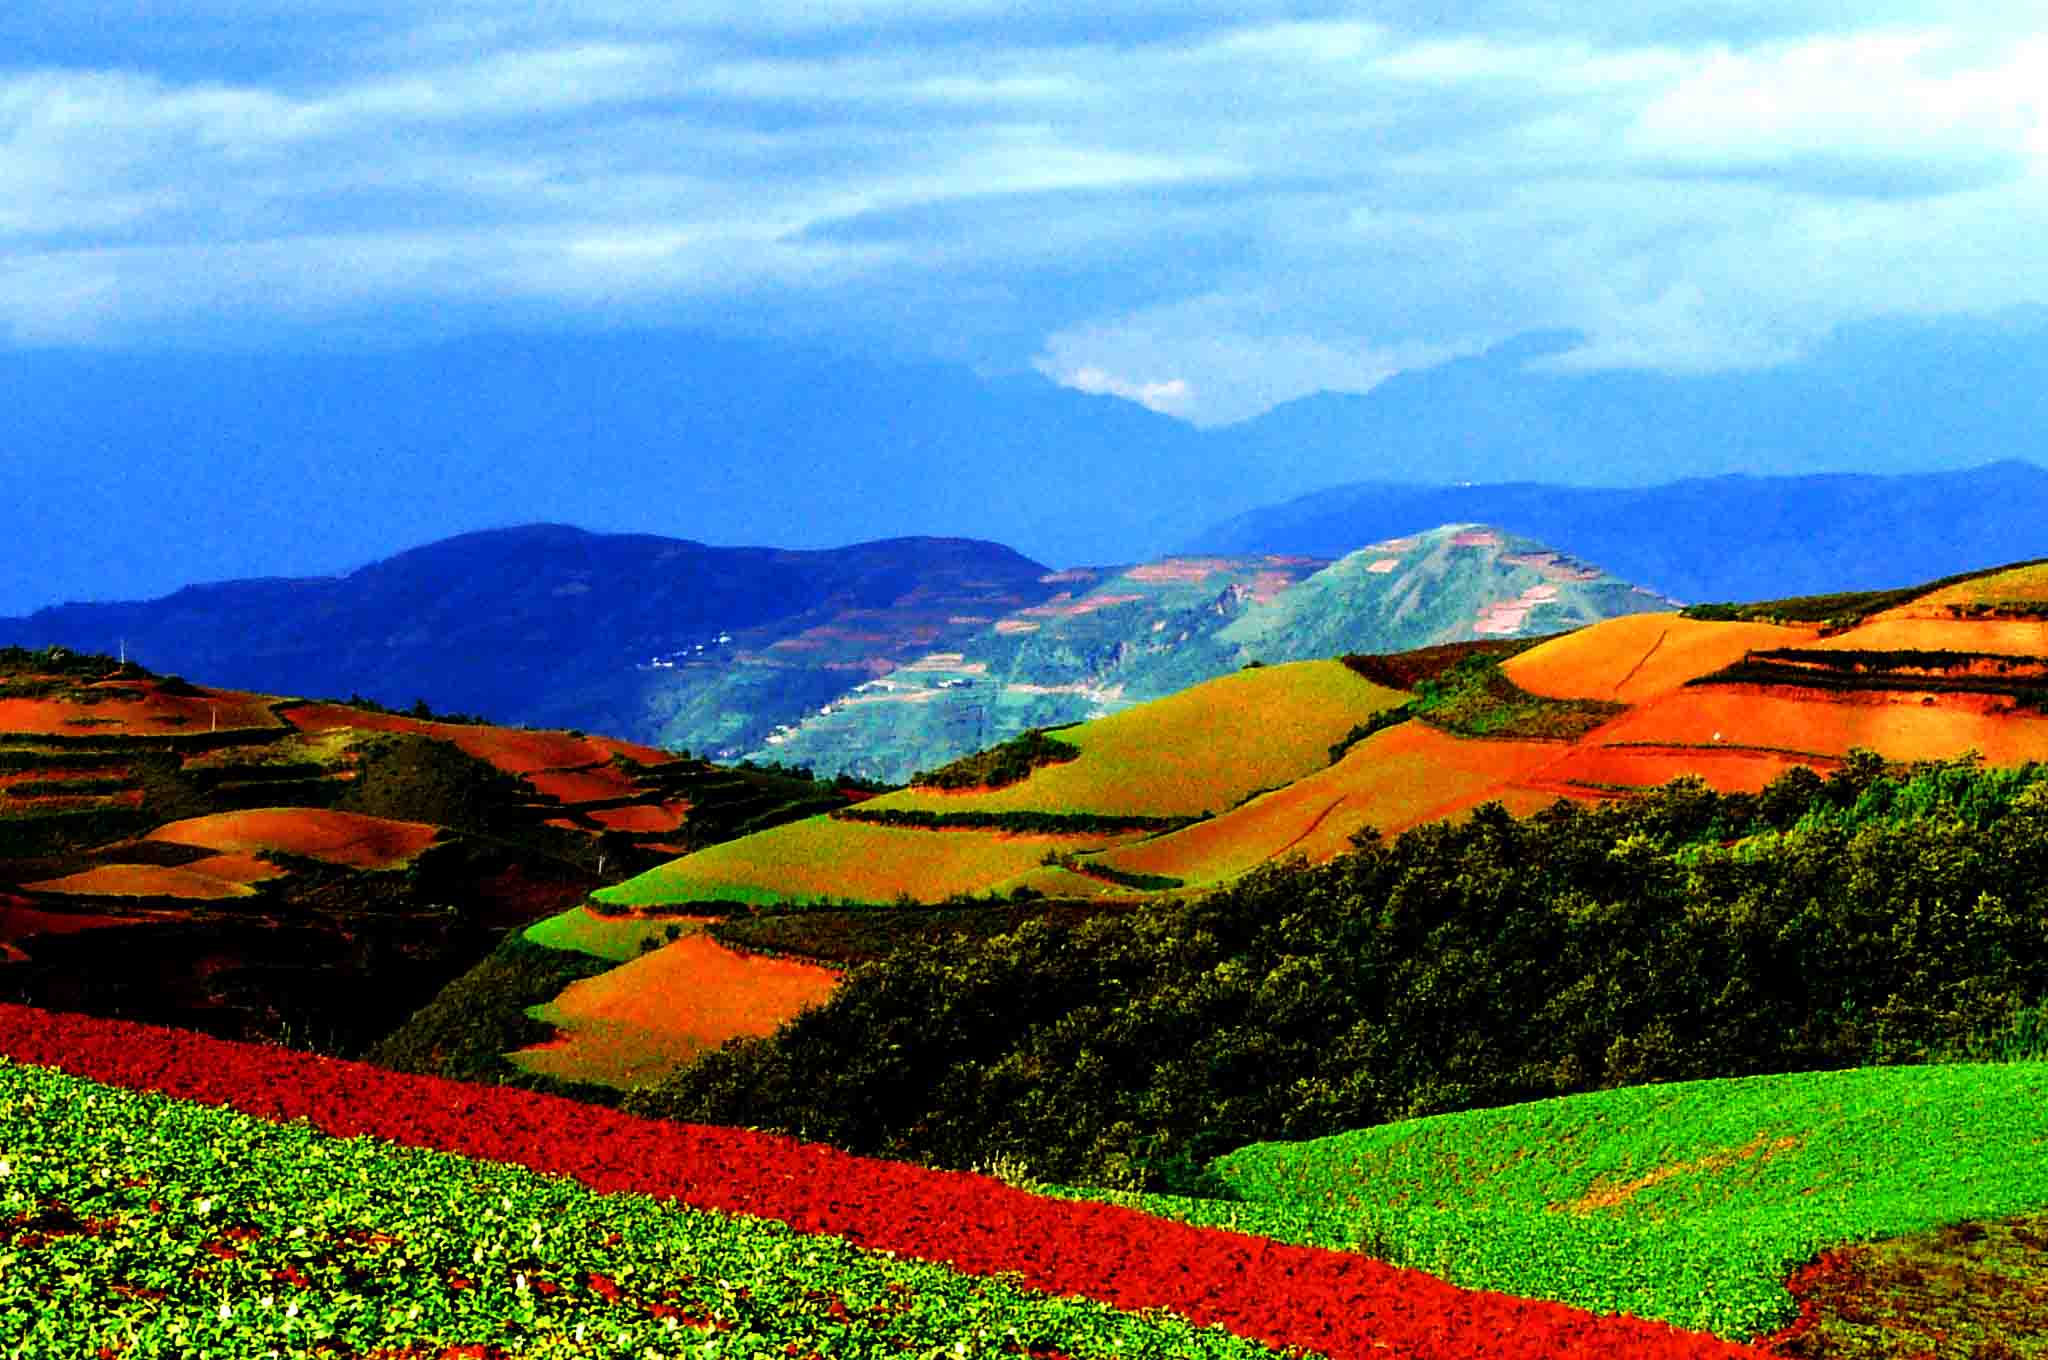
<svg viewBox="0 0 2048 1360">
<path fill-rule="evenodd" d="M 1546 633 L 1665 604 L 1485 528 L 1337 561 L 1053 571 L 969 539 L 805 553 L 537 524 L 342 578 L 45 608 L 0 621 L 0 645 L 125 649 L 268 694 L 424 698 L 719 760 L 899 780 L 1251 662 Z"/>
</svg>

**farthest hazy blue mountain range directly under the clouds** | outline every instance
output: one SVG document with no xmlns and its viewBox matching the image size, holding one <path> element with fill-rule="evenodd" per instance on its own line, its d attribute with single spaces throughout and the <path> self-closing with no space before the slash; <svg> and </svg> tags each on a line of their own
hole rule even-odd
<svg viewBox="0 0 2048 1360">
<path fill-rule="evenodd" d="M 973 537 L 1073 567 L 1208 547 L 1210 524 L 1366 481 L 1640 487 L 2042 461 L 2044 317 L 1847 328 L 1798 363 L 1694 377 L 1565 371 L 1571 336 L 1524 336 L 1219 430 L 1036 373 L 678 332 L 328 354 L 6 350 L 14 551 L 0 555 L 0 612 L 332 571 L 535 518 L 799 549 Z M 1694 590 L 1548 522 L 1466 508 L 1317 551 L 1466 518 Z M 1886 551 L 1849 565 L 1886 569 Z M 1890 580 L 1919 573 L 1892 563 Z"/>
</svg>

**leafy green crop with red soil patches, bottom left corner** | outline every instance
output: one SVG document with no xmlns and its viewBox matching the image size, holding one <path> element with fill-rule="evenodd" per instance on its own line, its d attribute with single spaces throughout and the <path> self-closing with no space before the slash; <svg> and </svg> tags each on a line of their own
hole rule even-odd
<svg viewBox="0 0 2048 1360">
<path fill-rule="evenodd" d="M 0 1110 L 6 1356 L 858 1360 L 1004 1354 L 1016 1337 L 1090 1356 L 1274 1354 L 782 1223 L 39 1067 L 0 1061 Z"/>
</svg>

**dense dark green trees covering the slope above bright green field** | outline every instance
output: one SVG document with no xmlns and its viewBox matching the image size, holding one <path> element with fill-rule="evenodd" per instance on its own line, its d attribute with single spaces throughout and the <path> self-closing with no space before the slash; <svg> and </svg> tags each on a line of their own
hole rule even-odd
<svg viewBox="0 0 2048 1360">
<path fill-rule="evenodd" d="M 631 1102 L 1171 1188 L 1260 1139 L 1952 1053 L 2048 997 L 2042 899 L 2036 766 L 1493 805 L 1196 901 L 911 942 Z"/>
</svg>

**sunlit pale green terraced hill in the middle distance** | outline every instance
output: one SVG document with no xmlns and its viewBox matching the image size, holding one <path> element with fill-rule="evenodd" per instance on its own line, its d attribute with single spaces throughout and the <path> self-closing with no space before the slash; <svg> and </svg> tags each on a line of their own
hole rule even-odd
<svg viewBox="0 0 2048 1360">
<path fill-rule="evenodd" d="M 1061 571 L 1061 594 L 772 733 L 758 760 L 901 782 L 1030 727 L 1079 723 L 1260 662 L 1532 637 L 1669 600 L 1483 524 L 1305 557 Z"/>
</svg>

